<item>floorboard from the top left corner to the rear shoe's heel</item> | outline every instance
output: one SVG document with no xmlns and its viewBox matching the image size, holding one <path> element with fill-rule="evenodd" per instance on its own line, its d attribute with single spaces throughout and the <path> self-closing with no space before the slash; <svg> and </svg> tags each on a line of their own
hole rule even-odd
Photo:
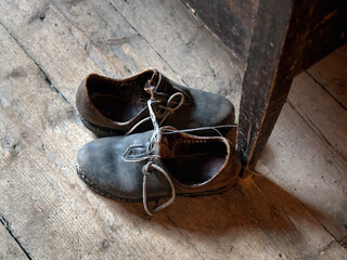
<svg viewBox="0 0 347 260">
<path fill-rule="evenodd" d="M 12 15 L 7 15 L 9 12 Z M 76 39 L 64 25 L 63 16 L 49 2 L 34 0 L 28 4 L 24 1 L 1 1 L 0 16 L 7 30 L 15 36 L 28 55 L 36 58 L 37 65 L 46 67 L 44 74 L 51 87 L 63 93 L 70 104 L 74 103 L 77 86 L 87 74 L 102 74 L 94 61 L 86 55 L 86 50 L 76 44 Z"/>
</svg>

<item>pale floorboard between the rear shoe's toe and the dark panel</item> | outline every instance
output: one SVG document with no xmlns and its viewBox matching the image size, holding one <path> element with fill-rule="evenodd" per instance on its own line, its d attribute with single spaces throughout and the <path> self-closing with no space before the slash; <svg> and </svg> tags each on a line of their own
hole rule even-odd
<svg viewBox="0 0 347 260">
<path fill-rule="evenodd" d="M 227 96 L 239 112 L 244 63 L 181 1 L 110 2 L 188 86 Z"/>
</svg>

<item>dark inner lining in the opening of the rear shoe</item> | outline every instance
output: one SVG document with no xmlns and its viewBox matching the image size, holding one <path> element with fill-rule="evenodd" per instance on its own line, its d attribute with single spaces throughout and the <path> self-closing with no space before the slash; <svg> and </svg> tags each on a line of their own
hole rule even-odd
<svg viewBox="0 0 347 260">
<path fill-rule="evenodd" d="M 146 107 L 150 94 L 143 87 L 151 76 L 146 73 L 126 81 L 91 76 L 87 82 L 91 103 L 114 121 L 129 121 Z"/>
</svg>

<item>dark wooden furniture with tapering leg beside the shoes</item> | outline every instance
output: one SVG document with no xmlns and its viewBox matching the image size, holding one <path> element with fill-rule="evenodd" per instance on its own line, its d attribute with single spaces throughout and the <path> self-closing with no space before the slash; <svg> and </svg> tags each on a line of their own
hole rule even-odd
<svg viewBox="0 0 347 260">
<path fill-rule="evenodd" d="M 347 42 L 344 0 L 183 0 L 246 64 L 237 150 L 253 169 L 293 78 Z"/>
</svg>

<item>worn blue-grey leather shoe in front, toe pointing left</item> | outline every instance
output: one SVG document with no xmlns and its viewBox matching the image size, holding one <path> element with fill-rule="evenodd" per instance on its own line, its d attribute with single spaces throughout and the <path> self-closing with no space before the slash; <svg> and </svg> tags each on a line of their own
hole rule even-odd
<svg viewBox="0 0 347 260">
<path fill-rule="evenodd" d="M 77 172 L 92 190 L 126 202 L 143 200 L 153 214 L 176 195 L 202 196 L 229 188 L 241 164 L 222 136 L 196 136 L 169 127 L 131 135 L 98 139 L 82 146 Z M 147 202 L 169 197 L 150 209 Z"/>
</svg>

